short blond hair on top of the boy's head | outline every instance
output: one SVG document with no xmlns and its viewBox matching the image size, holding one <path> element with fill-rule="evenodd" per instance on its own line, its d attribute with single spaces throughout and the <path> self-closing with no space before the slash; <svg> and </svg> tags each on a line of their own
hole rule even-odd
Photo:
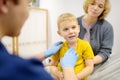
<svg viewBox="0 0 120 80">
<path fill-rule="evenodd" d="M 78 21 L 73 14 L 63 13 L 58 17 L 58 20 L 57 20 L 58 29 L 60 28 L 60 24 L 64 21 L 75 21 L 78 24 Z"/>
</svg>

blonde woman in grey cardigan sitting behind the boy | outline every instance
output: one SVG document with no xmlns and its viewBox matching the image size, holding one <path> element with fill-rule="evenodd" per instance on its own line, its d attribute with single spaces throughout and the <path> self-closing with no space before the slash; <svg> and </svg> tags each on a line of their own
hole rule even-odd
<svg viewBox="0 0 120 80">
<path fill-rule="evenodd" d="M 109 0 L 85 0 L 85 15 L 78 18 L 79 37 L 89 41 L 94 52 L 94 64 L 105 62 L 113 47 L 113 28 L 105 17 L 110 11 Z"/>
</svg>

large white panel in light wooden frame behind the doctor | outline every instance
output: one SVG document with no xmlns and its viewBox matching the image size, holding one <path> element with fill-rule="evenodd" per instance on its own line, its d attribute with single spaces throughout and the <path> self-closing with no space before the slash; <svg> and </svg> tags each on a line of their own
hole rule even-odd
<svg viewBox="0 0 120 80">
<path fill-rule="evenodd" d="M 21 34 L 14 40 L 16 54 L 27 58 L 45 51 L 48 48 L 48 10 L 30 7 L 23 26 Z"/>
</svg>

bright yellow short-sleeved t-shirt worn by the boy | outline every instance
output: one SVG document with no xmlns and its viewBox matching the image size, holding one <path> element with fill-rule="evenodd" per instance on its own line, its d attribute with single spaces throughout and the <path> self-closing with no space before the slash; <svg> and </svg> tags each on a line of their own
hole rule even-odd
<svg viewBox="0 0 120 80">
<path fill-rule="evenodd" d="M 68 50 L 68 45 L 65 41 L 63 42 L 63 46 L 59 50 L 59 52 L 52 56 L 52 59 L 55 61 L 59 61 L 64 56 L 67 50 Z M 77 74 L 85 68 L 84 60 L 93 58 L 94 54 L 90 44 L 87 41 L 81 40 L 79 38 L 78 38 L 78 44 L 77 44 L 77 47 L 75 48 L 75 51 L 77 54 L 80 55 L 74 67 L 75 73 Z M 58 64 L 58 69 L 62 71 L 62 67 L 60 63 Z M 85 78 L 84 80 L 87 80 L 87 78 Z"/>
</svg>

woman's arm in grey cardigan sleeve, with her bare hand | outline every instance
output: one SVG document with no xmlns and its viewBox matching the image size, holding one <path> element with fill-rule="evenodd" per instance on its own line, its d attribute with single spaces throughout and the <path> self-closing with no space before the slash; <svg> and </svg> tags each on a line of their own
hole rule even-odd
<svg viewBox="0 0 120 80">
<path fill-rule="evenodd" d="M 93 59 L 94 64 L 100 64 L 105 62 L 112 53 L 112 47 L 114 42 L 114 31 L 112 25 L 104 20 L 100 31 L 100 48 L 97 50 L 97 55 Z"/>
</svg>

